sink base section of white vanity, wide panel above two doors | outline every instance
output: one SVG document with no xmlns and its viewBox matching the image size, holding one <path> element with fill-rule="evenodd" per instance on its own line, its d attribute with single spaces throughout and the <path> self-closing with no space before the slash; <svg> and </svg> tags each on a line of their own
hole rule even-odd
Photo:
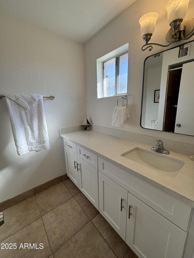
<svg viewBox="0 0 194 258">
<path fill-rule="evenodd" d="M 182 258 L 191 210 L 99 158 L 99 211 L 139 258 Z"/>
</svg>

